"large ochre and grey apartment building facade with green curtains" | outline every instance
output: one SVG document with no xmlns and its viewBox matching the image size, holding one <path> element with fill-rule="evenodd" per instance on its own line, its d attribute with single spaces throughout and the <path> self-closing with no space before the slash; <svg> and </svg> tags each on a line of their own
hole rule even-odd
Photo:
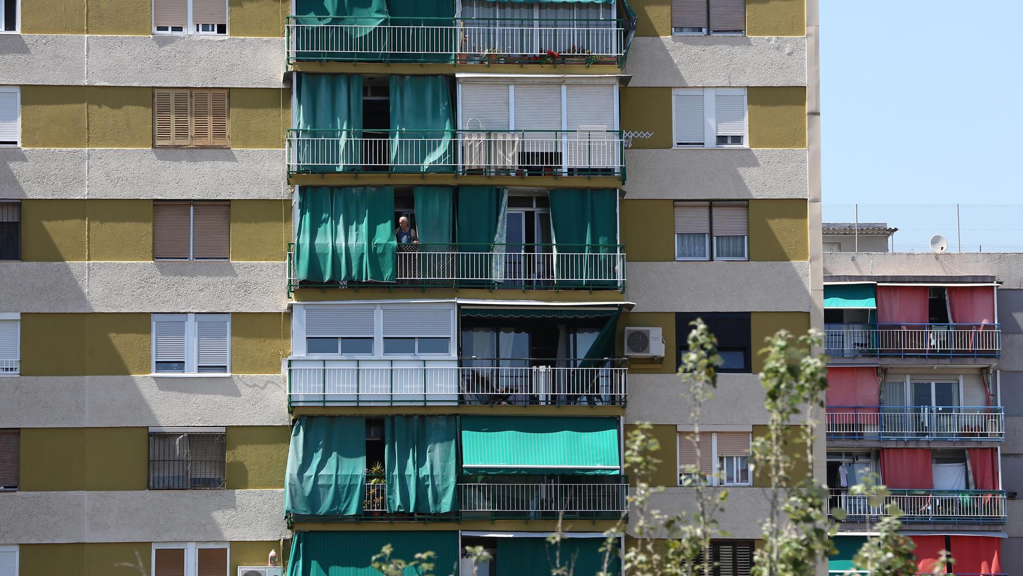
<svg viewBox="0 0 1023 576">
<path fill-rule="evenodd" d="M 544 574 L 560 520 L 592 573 L 636 421 L 748 573 L 756 351 L 824 319 L 814 2 L 3 6 L 0 576 Z"/>
</svg>

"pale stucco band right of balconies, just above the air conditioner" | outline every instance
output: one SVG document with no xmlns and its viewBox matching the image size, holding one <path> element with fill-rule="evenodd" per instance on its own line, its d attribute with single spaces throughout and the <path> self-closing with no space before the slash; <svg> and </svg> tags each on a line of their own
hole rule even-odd
<svg viewBox="0 0 1023 576">
<path fill-rule="evenodd" d="M 625 297 L 635 311 L 804 311 L 809 262 L 630 262 Z"/>
</svg>

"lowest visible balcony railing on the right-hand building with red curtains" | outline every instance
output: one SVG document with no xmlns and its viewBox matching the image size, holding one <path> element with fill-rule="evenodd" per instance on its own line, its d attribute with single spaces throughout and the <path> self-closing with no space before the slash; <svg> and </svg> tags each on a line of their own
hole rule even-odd
<svg viewBox="0 0 1023 576">
<path fill-rule="evenodd" d="M 832 490 L 831 508 L 845 511 L 844 522 L 877 521 L 888 506 L 896 505 L 908 524 L 1005 524 L 1006 492 L 1003 490 L 895 490 L 881 506 L 871 506 L 869 496 Z"/>
</svg>

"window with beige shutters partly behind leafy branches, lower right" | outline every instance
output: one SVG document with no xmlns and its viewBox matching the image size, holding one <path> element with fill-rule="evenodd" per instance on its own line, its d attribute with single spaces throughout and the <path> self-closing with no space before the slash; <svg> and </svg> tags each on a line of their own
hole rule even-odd
<svg viewBox="0 0 1023 576">
<path fill-rule="evenodd" d="M 713 486 L 750 486 L 750 433 L 701 432 L 700 458 L 692 432 L 678 433 L 678 483 L 694 478 Z"/>
</svg>

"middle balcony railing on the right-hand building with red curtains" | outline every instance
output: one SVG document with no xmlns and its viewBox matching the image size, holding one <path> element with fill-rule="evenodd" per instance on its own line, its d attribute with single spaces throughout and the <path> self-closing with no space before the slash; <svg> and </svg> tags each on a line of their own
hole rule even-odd
<svg viewBox="0 0 1023 576">
<path fill-rule="evenodd" d="M 1006 438 L 1002 406 L 828 406 L 829 440 Z"/>
</svg>

